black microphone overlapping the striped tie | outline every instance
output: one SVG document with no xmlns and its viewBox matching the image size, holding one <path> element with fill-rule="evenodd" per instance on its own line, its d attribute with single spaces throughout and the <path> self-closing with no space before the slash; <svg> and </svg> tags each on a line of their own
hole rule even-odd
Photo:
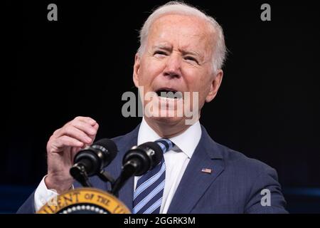
<svg viewBox="0 0 320 228">
<path fill-rule="evenodd" d="M 132 176 L 141 176 L 161 162 L 164 152 L 156 142 L 145 142 L 126 152 L 122 160 L 122 172 L 112 187 L 112 194 L 117 195 L 120 188 Z"/>
</svg>

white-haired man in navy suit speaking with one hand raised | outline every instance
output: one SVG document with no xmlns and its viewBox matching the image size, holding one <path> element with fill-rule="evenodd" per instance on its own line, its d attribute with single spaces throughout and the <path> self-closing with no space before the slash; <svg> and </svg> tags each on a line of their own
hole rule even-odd
<svg viewBox="0 0 320 228">
<path fill-rule="evenodd" d="M 122 157 L 133 145 L 164 138 L 172 147 L 164 153 L 165 185 L 158 194 L 158 208 L 137 209 L 141 209 L 141 202 L 135 202 L 139 177 L 132 177 L 120 190 L 119 199 L 134 213 L 286 212 L 277 172 L 214 142 L 198 121 L 204 103 L 218 93 L 224 59 L 222 28 L 198 9 L 170 2 L 146 20 L 133 72 L 144 103 L 144 118 L 131 133 L 113 139 L 119 155 L 107 170 L 119 176 Z M 170 91 L 181 95 L 168 98 L 161 94 Z M 183 115 L 178 115 L 181 110 Z M 187 116 L 186 110 L 193 115 Z M 98 127 L 92 118 L 78 117 L 53 133 L 47 145 L 48 175 L 18 212 L 40 209 L 55 195 L 50 189 L 60 194 L 73 187 L 69 174 L 73 157 L 92 144 Z M 95 177 L 91 182 L 105 188 Z M 266 190 L 270 202 L 264 204 L 261 192 Z"/>
</svg>

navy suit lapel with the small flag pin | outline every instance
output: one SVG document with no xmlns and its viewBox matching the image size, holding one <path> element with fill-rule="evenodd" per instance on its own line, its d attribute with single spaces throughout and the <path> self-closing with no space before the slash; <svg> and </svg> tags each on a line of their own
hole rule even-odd
<svg viewBox="0 0 320 228">
<path fill-rule="evenodd" d="M 215 178 L 223 172 L 220 150 L 203 126 L 201 130 L 201 140 L 181 178 L 168 213 L 190 213 Z M 211 169 L 212 172 L 201 172 L 203 168 Z"/>
</svg>

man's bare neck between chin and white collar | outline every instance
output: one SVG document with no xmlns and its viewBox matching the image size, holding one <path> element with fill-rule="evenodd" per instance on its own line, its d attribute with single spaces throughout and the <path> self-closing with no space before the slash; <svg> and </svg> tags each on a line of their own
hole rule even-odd
<svg viewBox="0 0 320 228">
<path fill-rule="evenodd" d="M 185 120 L 169 120 L 169 119 L 151 119 L 144 116 L 146 123 L 154 130 L 161 138 L 173 138 L 185 132 L 191 125 L 186 125 Z"/>
</svg>

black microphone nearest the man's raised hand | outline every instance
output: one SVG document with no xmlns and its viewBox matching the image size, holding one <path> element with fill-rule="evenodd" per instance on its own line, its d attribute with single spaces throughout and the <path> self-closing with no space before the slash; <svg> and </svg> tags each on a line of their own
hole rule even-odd
<svg viewBox="0 0 320 228">
<path fill-rule="evenodd" d="M 91 146 L 80 150 L 73 160 L 70 175 L 83 186 L 91 186 L 87 176 L 99 175 L 103 168 L 114 160 L 117 155 L 117 145 L 110 139 L 97 140 Z"/>
</svg>

